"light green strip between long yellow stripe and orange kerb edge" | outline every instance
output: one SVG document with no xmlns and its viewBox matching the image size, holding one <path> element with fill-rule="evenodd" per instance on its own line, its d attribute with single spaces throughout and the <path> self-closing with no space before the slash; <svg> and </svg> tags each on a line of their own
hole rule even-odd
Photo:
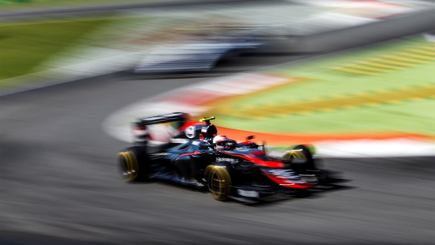
<svg viewBox="0 0 435 245">
<path fill-rule="evenodd" d="M 217 115 L 219 126 L 253 132 L 271 133 L 355 133 L 385 131 L 435 135 L 435 100 L 385 104 L 373 108 L 338 109 L 311 115 L 271 116 L 258 120 Z"/>
</svg>

